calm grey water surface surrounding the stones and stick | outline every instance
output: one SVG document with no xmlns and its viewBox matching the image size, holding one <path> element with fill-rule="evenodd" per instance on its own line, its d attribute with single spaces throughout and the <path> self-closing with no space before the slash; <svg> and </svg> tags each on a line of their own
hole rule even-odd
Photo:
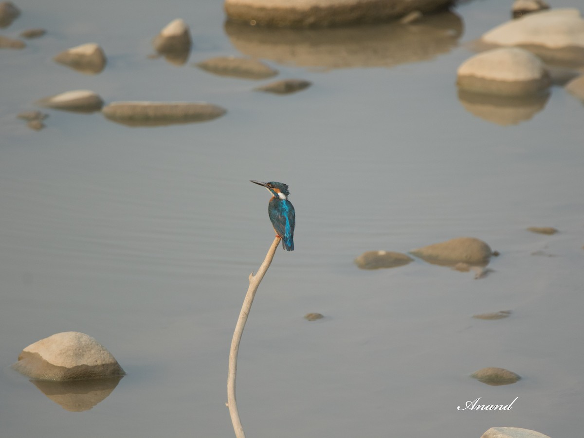
<svg viewBox="0 0 584 438">
<path fill-rule="evenodd" d="M 233 435 L 228 349 L 248 274 L 273 237 L 268 194 L 249 179 L 290 185 L 297 231 L 296 251 L 276 253 L 241 345 L 248 436 L 479 437 L 491 426 L 582 435 L 584 107 L 555 86 L 520 123 L 493 123 L 454 85 L 472 54 L 465 43 L 505 21 L 509 2 L 358 37 L 250 36 L 225 27 L 210 0 L 18 6 L 2 34 L 48 33 L 0 53 L 1 436 Z M 152 37 L 177 17 L 192 30 L 189 61 L 149 59 Z M 108 58 L 99 75 L 51 61 L 93 41 Z M 269 81 L 193 67 L 242 54 L 313 85 L 267 95 L 252 89 Z M 207 101 L 228 113 L 130 128 L 47 110 L 40 132 L 15 117 L 79 88 L 106 102 Z M 353 265 L 370 249 L 463 235 L 500 251 L 485 279 L 419 260 Z M 498 310 L 513 314 L 471 318 Z M 326 318 L 307 322 L 307 312 Z M 63 409 L 9 368 L 62 331 L 94 336 L 127 371 L 89 411 Z M 523 380 L 468 377 L 487 366 Z M 478 397 L 519 399 L 511 411 L 457 411 Z"/>
</svg>

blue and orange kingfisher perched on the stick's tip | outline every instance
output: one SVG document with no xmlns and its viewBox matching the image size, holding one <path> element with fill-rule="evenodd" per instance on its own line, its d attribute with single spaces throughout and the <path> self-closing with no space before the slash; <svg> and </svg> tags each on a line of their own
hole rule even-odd
<svg viewBox="0 0 584 438">
<path fill-rule="evenodd" d="M 272 199 L 267 204 L 267 214 L 272 221 L 272 226 L 276 235 L 282 241 L 282 248 L 286 251 L 294 251 L 294 225 L 296 225 L 296 214 L 294 206 L 288 201 L 288 185 L 275 181 L 262 182 L 250 179 L 252 183 L 266 187 L 272 193 Z"/>
</svg>

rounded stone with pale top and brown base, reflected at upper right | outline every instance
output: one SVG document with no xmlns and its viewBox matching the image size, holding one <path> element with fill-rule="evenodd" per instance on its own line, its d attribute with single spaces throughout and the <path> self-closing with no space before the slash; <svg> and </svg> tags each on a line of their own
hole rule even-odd
<svg viewBox="0 0 584 438">
<path fill-rule="evenodd" d="M 465 91 L 526 96 L 551 85 L 543 62 L 527 50 L 503 47 L 479 53 L 458 67 L 457 85 Z"/>
</svg>

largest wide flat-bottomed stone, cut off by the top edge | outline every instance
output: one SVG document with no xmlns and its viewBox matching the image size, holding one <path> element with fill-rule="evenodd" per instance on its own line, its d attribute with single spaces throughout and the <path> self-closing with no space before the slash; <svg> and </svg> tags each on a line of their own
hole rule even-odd
<svg viewBox="0 0 584 438">
<path fill-rule="evenodd" d="M 224 8 L 230 20 L 252 26 L 328 27 L 384 22 L 450 4 L 448 0 L 225 0 Z"/>
</svg>

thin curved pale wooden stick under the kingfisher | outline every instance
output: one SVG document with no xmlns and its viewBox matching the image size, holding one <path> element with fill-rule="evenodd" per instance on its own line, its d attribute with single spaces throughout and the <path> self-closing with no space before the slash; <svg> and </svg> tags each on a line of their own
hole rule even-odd
<svg viewBox="0 0 584 438">
<path fill-rule="evenodd" d="M 231 349 L 229 350 L 229 369 L 227 373 L 227 406 L 231 415 L 233 430 L 237 438 L 245 438 L 244 427 L 241 425 L 239 412 L 237 410 L 237 401 L 235 401 L 235 376 L 237 374 L 237 353 L 239 352 L 239 342 L 241 341 L 241 335 L 244 333 L 245 322 L 248 320 L 249 311 L 251 310 L 253 303 L 253 297 L 255 297 L 259 283 L 266 274 L 267 268 L 269 268 L 270 263 L 272 263 L 274 253 L 276 253 L 276 248 L 278 247 L 279 243 L 280 237 L 276 236 L 272 242 L 272 246 L 270 246 L 270 249 L 267 251 L 266 258 L 263 260 L 262 265 L 258 269 L 258 273 L 255 275 L 253 272 L 249 274 L 248 293 L 245 294 L 244 305 L 242 305 L 241 312 L 239 312 L 239 318 L 237 320 L 237 325 L 235 325 L 233 339 L 231 339 Z"/>
</svg>

